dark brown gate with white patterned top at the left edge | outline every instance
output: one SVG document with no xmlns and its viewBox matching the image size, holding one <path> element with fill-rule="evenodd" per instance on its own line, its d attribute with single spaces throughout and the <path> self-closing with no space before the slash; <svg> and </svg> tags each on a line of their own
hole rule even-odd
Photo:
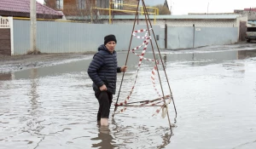
<svg viewBox="0 0 256 149">
<path fill-rule="evenodd" d="M 0 16 L 0 54 L 12 55 L 13 51 L 13 18 Z"/>
</svg>

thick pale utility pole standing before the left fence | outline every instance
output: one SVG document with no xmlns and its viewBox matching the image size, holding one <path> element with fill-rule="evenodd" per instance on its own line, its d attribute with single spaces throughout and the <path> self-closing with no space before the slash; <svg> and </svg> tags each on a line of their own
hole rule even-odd
<svg viewBox="0 0 256 149">
<path fill-rule="evenodd" d="M 37 50 L 37 10 L 36 0 L 30 0 L 30 50 L 32 54 Z"/>
</svg>

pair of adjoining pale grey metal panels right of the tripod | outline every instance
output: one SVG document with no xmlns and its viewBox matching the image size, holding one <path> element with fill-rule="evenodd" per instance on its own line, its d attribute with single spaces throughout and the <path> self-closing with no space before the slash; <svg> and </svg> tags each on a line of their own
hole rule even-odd
<svg viewBox="0 0 256 149">
<path fill-rule="evenodd" d="M 168 27 L 168 49 L 231 44 L 237 37 L 237 27 L 195 27 L 195 36 L 194 27 Z"/>
</svg>

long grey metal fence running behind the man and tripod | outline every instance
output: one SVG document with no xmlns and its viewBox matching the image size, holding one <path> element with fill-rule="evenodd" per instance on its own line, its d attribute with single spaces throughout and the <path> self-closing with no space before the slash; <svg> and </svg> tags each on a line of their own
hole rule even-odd
<svg viewBox="0 0 256 149">
<path fill-rule="evenodd" d="M 42 53 L 84 53 L 97 51 L 104 36 L 117 37 L 116 50 L 128 50 L 132 25 L 104 25 L 74 22 L 38 21 L 37 48 Z M 135 30 L 145 29 L 138 25 Z M 153 26 L 160 49 L 188 49 L 207 45 L 236 43 L 237 27 L 167 27 Z M 195 32 L 194 32 L 195 31 Z M 167 33 L 167 36 L 165 34 Z M 143 36 L 144 33 L 140 33 Z M 167 40 L 166 38 L 167 37 Z M 154 41 L 154 40 L 153 40 Z M 131 49 L 141 45 L 142 39 L 133 37 Z M 154 49 L 156 48 L 153 43 Z M 148 46 L 150 49 L 151 46 Z M 26 54 L 30 49 L 30 20 L 14 20 L 14 54 Z"/>
</svg>

